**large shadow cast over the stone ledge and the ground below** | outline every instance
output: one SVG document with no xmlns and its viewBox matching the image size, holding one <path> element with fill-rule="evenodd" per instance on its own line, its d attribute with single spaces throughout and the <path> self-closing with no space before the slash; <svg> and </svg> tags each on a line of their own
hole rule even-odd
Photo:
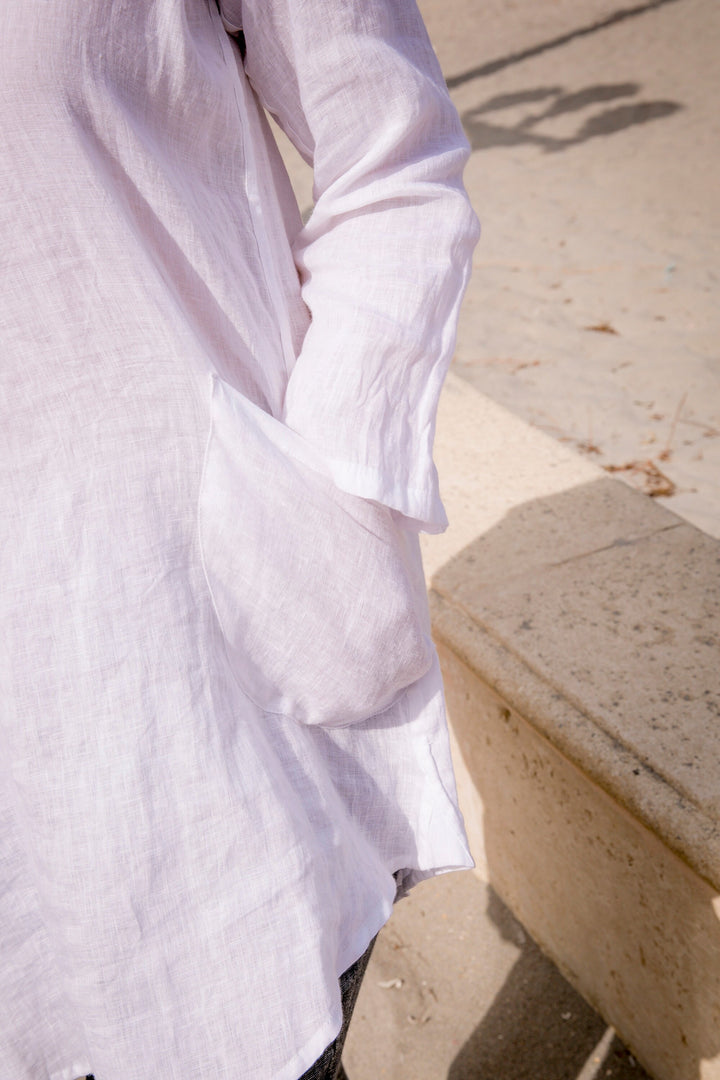
<svg viewBox="0 0 720 1080">
<path fill-rule="evenodd" d="M 719 568 L 716 540 L 599 478 L 510 509 L 431 592 L 487 879 L 673 1080 L 720 1076 Z M 603 1030 L 524 945 L 449 1080 L 646 1076 Z"/>
</svg>

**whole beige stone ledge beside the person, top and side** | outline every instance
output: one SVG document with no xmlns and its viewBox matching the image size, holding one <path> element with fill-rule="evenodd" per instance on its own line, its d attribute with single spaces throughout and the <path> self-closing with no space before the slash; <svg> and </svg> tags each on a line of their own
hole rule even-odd
<svg viewBox="0 0 720 1080">
<path fill-rule="evenodd" d="M 657 1080 L 720 1080 L 720 542 L 452 377 L 436 460 L 478 870 Z"/>
</svg>

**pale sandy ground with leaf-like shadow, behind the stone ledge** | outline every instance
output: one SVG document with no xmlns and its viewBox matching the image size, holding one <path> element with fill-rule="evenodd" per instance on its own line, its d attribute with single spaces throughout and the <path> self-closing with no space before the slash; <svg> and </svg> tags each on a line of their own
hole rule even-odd
<svg viewBox="0 0 720 1080">
<path fill-rule="evenodd" d="M 457 373 L 720 536 L 720 5 L 440 8 L 484 224 Z"/>
</svg>

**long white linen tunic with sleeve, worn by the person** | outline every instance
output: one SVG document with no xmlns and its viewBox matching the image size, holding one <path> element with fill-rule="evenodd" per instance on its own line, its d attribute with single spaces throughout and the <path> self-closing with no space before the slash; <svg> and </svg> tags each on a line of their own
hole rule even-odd
<svg viewBox="0 0 720 1080">
<path fill-rule="evenodd" d="M 1 1080 L 296 1080 L 393 873 L 471 864 L 434 652 L 351 663 L 395 593 L 427 642 L 466 144 L 411 0 L 222 15 L 0 5 Z"/>
</svg>

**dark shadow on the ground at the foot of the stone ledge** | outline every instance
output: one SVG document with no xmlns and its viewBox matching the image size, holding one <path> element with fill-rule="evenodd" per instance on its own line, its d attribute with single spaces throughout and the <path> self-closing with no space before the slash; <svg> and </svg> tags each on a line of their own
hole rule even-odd
<svg viewBox="0 0 720 1080">
<path fill-rule="evenodd" d="M 488 917 L 520 955 L 447 1080 L 650 1080 L 492 889 Z"/>
</svg>

